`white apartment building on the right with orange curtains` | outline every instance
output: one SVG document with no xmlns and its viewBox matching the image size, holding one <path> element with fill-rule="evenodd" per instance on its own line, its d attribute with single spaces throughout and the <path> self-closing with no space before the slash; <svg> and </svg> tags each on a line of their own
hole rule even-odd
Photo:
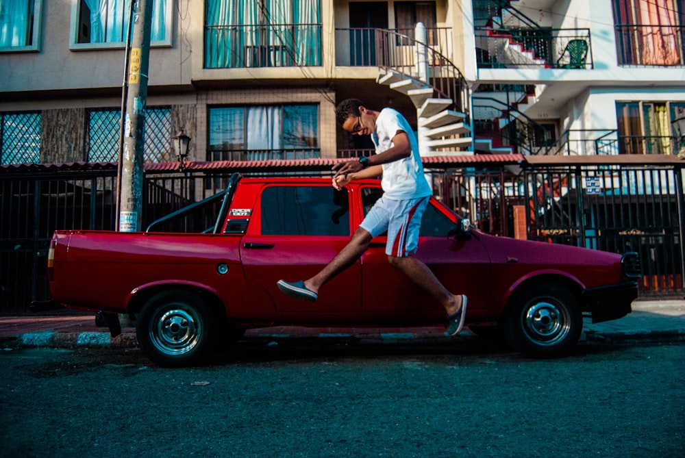
<svg viewBox="0 0 685 458">
<path fill-rule="evenodd" d="M 680 153 L 681 0 L 473 0 L 476 151 Z M 680 123 L 678 122 L 680 120 Z"/>
</svg>

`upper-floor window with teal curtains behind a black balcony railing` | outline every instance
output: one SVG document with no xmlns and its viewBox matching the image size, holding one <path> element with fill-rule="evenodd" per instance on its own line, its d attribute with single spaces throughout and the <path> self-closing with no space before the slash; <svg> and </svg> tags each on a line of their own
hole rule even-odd
<svg viewBox="0 0 685 458">
<path fill-rule="evenodd" d="M 205 68 L 321 65 L 320 0 L 207 0 Z"/>
</svg>

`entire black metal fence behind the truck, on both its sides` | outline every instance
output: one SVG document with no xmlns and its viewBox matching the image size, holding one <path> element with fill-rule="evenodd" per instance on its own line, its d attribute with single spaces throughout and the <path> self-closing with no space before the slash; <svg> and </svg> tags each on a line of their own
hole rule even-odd
<svg viewBox="0 0 685 458">
<path fill-rule="evenodd" d="M 153 220 L 204 199 L 236 170 L 147 173 L 145 229 Z M 573 166 L 432 170 L 438 199 L 501 236 L 637 251 L 641 296 L 682 295 L 682 168 Z M 0 315 L 29 314 L 49 296 L 45 270 L 55 229 L 113 229 L 115 167 L 64 173 L 0 174 Z M 214 214 L 200 212 L 155 227 L 199 232 Z M 84 279 L 88 281 L 88 279 Z"/>
</svg>

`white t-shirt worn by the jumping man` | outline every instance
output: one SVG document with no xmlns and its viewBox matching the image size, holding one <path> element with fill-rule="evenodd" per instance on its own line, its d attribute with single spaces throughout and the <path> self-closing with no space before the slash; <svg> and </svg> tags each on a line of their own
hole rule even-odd
<svg viewBox="0 0 685 458">
<path fill-rule="evenodd" d="M 393 137 L 397 131 L 403 131 L 409 137 L 412 153 L 399 161 L 382 164 L 383 180 L 381 186 L 390 199 L 418 199 L 430 196 L 433 190 L 423 176 L 423 164 L 419 155 L 419 142 L 408 121 L 397 110 L 384 108 L 376 119 L 376 128 L 371 133 L 371 140 L 376 147 L 376 154 L 393 147 Z"/>
</svg>

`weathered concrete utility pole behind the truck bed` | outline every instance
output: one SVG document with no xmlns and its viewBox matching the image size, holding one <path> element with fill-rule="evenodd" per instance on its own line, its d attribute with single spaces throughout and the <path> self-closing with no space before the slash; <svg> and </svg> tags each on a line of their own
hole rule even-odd
<svg viewBox="0 0 685 458">
<path fill-rule="evenodd" d="M 145 145 L 151 15 L 152 0 L 136 0 L 121 157 L 119 231 L 123 232 L 140 231 L 142 225 L 142 153 Z"/>
</svg>

